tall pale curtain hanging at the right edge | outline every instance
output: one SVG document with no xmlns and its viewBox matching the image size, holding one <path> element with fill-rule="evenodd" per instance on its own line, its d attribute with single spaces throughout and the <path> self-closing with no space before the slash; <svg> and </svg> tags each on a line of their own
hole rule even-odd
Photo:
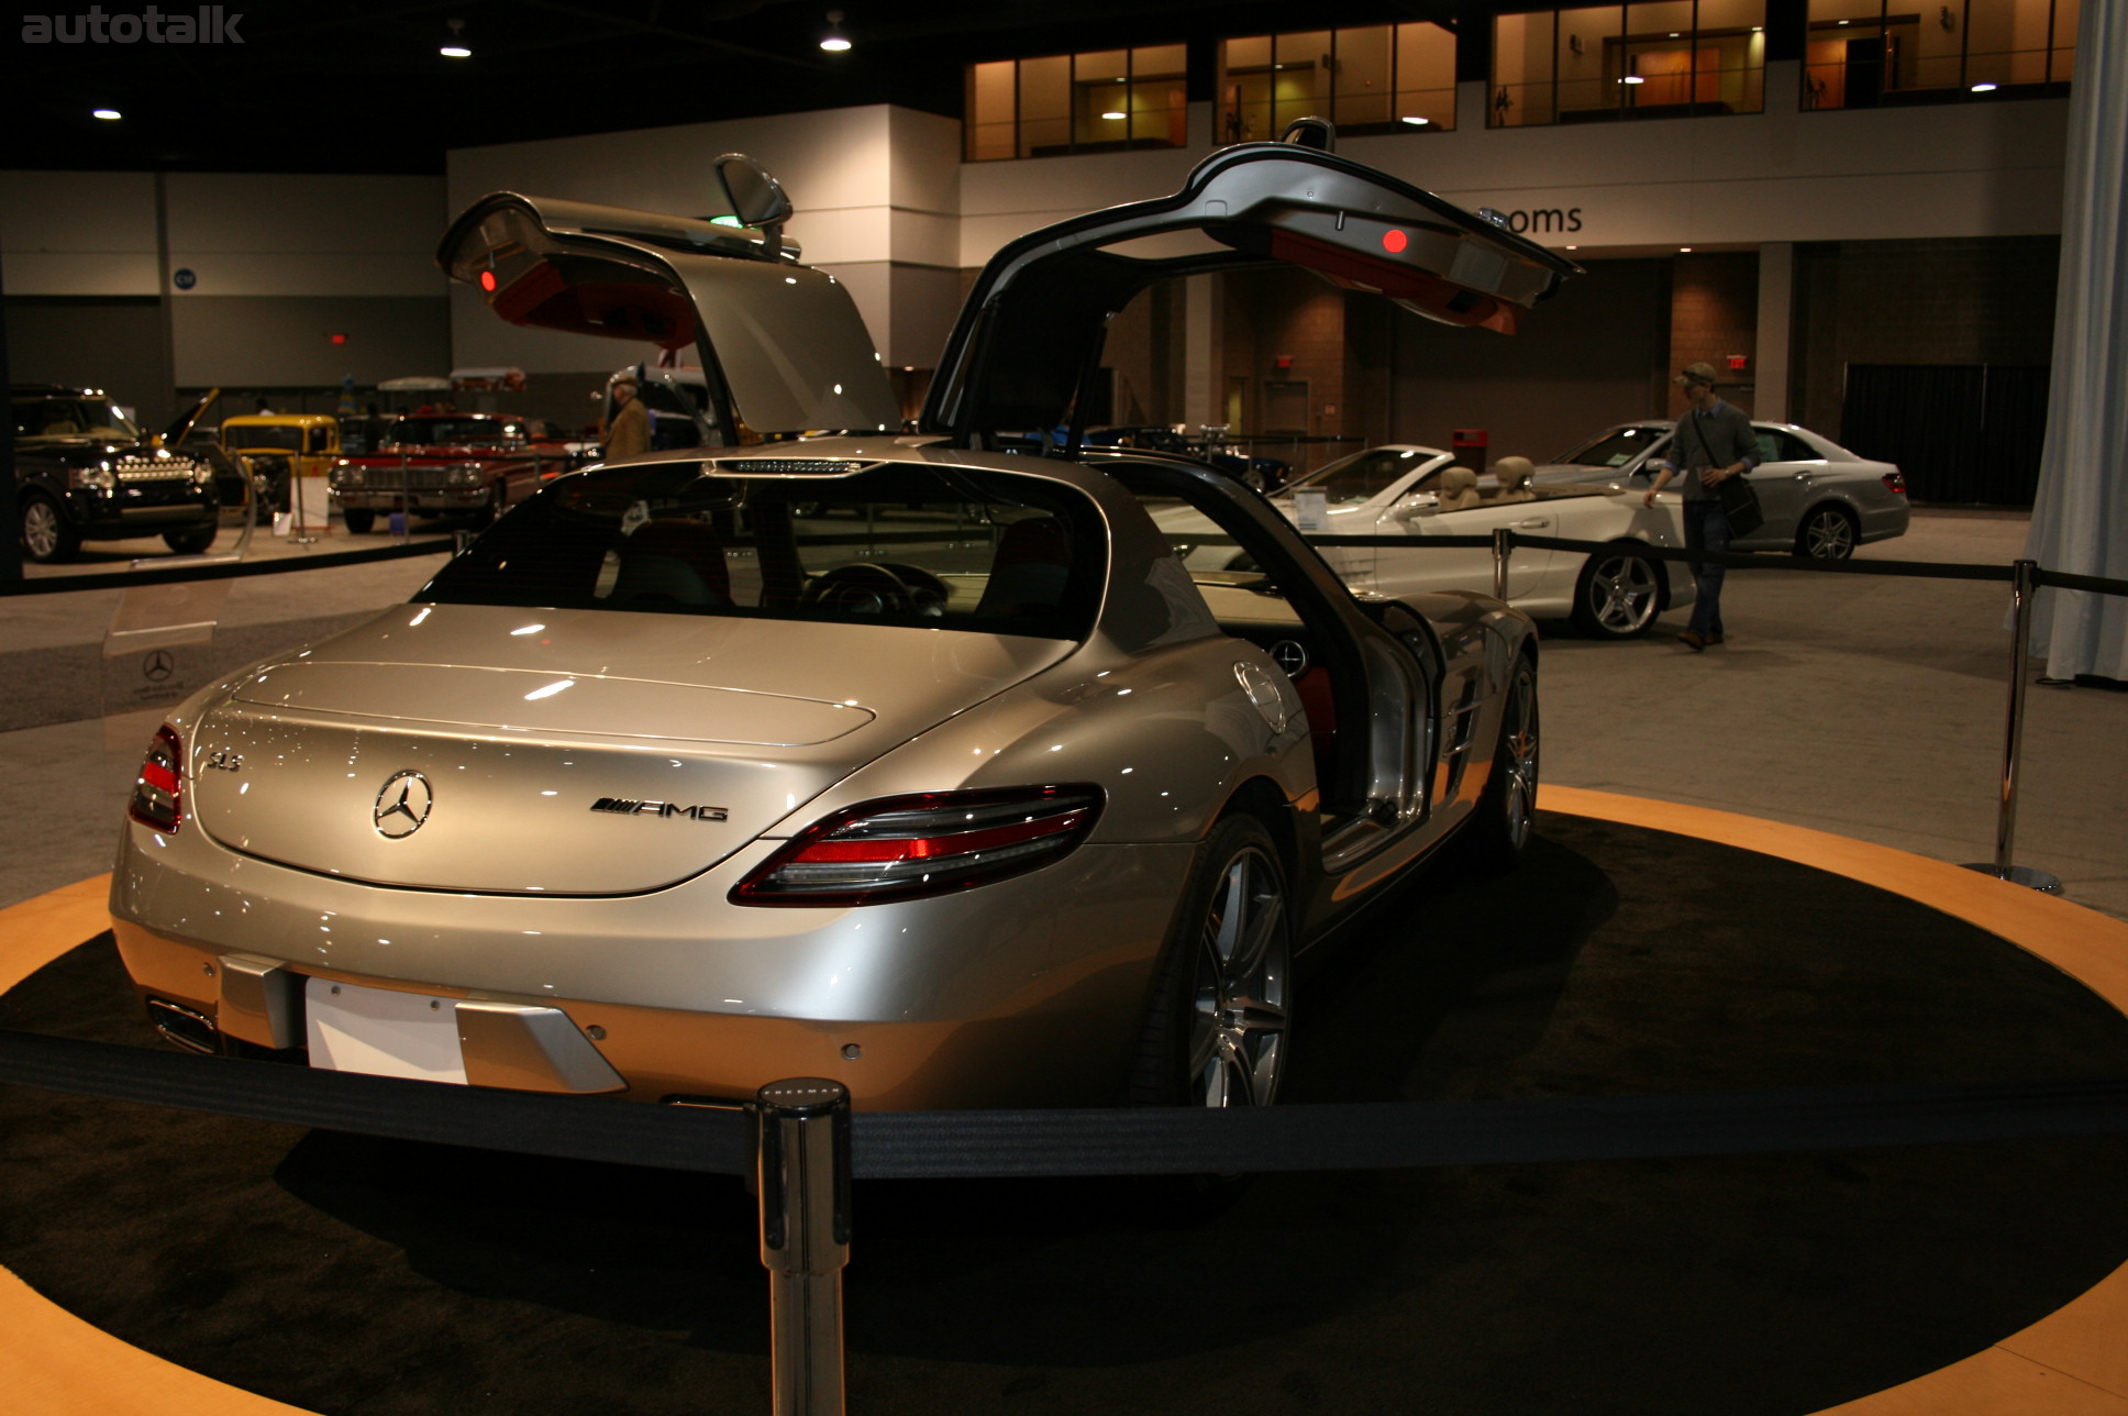
<svg viewBox="0 0 2128 1416">
<path fill-rule="evenodd" d="M 2054 385 L 2026 556 L 2128 579 L 2128 0 L 2083 0 L 2062 175 Z M 2128 679 L 2128 598 L 2043 590 L 2047 677 Z"/>
</svg>

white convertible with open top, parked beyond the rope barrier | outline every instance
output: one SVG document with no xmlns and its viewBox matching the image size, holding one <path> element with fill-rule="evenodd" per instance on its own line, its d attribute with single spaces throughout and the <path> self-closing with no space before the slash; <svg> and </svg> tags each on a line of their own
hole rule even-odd
<svg viewBox="0 0 2128 1416">
<path fill-rule="evenodd" d="M 1643 488 L 1615 483 L 1551 483 L 1530 500 L 1502 500 L 1485 479 L 1473 505 L 1443 498 L 1443 473 L 1456 456 L 1439 447 L 1390 443 L 1339 458 L 1279 490 L 1273 505 L 1300 524 L 1330 569 L 1356 590 L 1404 596 L 1428 590 L 1494 590 L 1490 545 L 1453 545 L 1443 537 L 1485 537 L 1509 526 L 1528 537 L 1602 541 L 1598 554 L 1517 547 L 1507 566 L 1507 600 L 1534 618 L 1570 618 L 1587 635 L 1632 639 L 1666 609 L 1692 603 L 1683 562 L 1664 562 L 1647 547 L 1683 547 L 1679 498 L 1662 492 L 1643 507 Z M 1311 494 L 1321 492 L 1315 526 Z M 1190 511 L 1168 511 L 1162 528 L 1175 541 L 1211 532 Z M 1319 537 L 1330 537 L 1328 541 Z M 1396 537 L 1411 545 L 1341 545 L 1336 537 Z M 1204 534 L 1190 545 L 1192 569 L 1251 569 L 1232 545 Z"/>
</svg>

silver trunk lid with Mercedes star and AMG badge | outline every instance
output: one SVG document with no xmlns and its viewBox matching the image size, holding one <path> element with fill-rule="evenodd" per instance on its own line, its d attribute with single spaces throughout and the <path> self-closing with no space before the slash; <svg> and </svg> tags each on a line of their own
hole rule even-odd
<svg viewBox="0 0 2128 1416">
<path fill-rule="evenodd" d="M 1073 645 L 898 626 L 413 605 L 262 669 L 194 735 L 223 845 L 385 886 L 696 875 Z M 832 679 L 832 696 L 824 684 Z"/>
</svg>

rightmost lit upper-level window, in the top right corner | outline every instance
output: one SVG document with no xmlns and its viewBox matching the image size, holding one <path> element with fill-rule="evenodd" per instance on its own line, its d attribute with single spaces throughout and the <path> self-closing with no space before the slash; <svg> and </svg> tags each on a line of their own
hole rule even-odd
<svg viewBox="0 0 2128 1416">
<path fill-rule="evenodd" d="M 1811 0 L 1805 109 L 1875 109 L 2068 83 L 2077 0 Z"/>
</svg>

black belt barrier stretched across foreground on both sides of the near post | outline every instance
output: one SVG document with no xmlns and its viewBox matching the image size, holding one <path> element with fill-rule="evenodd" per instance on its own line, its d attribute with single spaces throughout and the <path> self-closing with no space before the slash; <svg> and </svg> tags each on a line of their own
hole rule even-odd
<svg viewBox="0 0 2128 1416">
<path fill-rule="evenodd" d="M 741 1175 L 741 1109 L 658 1107 L 189 1056 L 0 1028 L 0 1082 L 440 1146 Z M 1192 1175 L 1934 1146 L 2128 1133 L 2128 1080 L 1658 1097 L 860 1112 L 860 1180 Z"/>
</svg>

